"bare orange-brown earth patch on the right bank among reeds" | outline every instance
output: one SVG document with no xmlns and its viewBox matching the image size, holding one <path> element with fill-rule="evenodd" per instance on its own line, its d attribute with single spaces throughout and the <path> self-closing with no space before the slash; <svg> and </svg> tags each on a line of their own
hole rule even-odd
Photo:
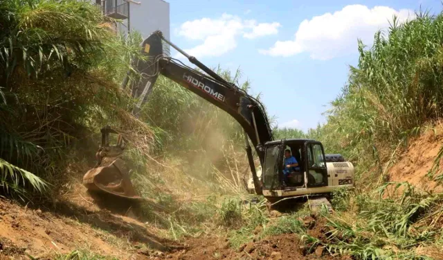
<svg viewBox="0 0 443 260">
<path fill-rule="evenodd" d="M 424 190 L 435 189 L 435 182 L 426 177 L 426 174 L 431 170 L 435 157 L 442 148 L 442 141 L 442 124 L 412 139 L 408 148 L 399 155 L 389 169 L 389 181 L 409 182 Z"/>
</svg>

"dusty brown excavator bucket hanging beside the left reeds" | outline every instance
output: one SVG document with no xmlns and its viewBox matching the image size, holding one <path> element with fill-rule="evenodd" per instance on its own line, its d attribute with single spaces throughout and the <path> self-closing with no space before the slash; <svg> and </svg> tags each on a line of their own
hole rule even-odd
<svg viewBox="0 0 443 260">
<path fill-rule="evenodd" d="M 102 146 L 96 153 L 97 164 L 83 176 L 83 185 L 90 191 L 100 191 L 114 196 L 139 199 L 129 179 L 129 169 L 120 158 L 125 150 L 125 140 L 115 130 L 102 128 Z M 118 134 L 116 146 L 109 145 L 109 133 Z"/>
</svg>

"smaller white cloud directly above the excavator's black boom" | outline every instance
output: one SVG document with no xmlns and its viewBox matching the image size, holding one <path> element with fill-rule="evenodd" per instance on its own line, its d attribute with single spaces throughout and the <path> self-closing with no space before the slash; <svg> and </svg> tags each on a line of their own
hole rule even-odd
<svg viewBox="0 0 443 260">
<path fill-rule="evenodd" d="M 190 55 L 197 58 L 217 57 L 235 49 L 237 37 L 242 35 L 248 39 L 255 39 L 278 33 L 280 24 L 257 24 L 255 20 L 244 20 L 234 15 L 223 14 L 218 19 L 202 18 L 186 21 L 177 30 L 177 34 L 188 40 L 202 41 L 201 44 L 186 49 Z M 178 58 L 183 58 L 178 55 Z"/>
</svg>

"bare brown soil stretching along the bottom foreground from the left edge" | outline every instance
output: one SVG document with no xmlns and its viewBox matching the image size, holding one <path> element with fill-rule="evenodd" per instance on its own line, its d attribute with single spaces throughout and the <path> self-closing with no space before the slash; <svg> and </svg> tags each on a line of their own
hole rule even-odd
<svg viewBox="0 0 443 260">
<path fill-rule="evenodd" d="M 80 190 L 79 190 L 80 189 Z M 171 241 L 141 223 L 130 205 L 107 205 L 82 188 L 72 189 L 55 205 L 31 207 L 0 198 L 0 260 L 53 259 L 84 249 L 117 259 L 333 259 L 321 248 L 307 248 L 295 234 L 271 236 L 233 249 L 226 236 L 201 236 Z M 76 193 L 77 196 L 74 196 Z M 111 209 L 112 211 L 109 211 Z M 323 235 L 322 225 L 309 234 Z"/>
</svg>

